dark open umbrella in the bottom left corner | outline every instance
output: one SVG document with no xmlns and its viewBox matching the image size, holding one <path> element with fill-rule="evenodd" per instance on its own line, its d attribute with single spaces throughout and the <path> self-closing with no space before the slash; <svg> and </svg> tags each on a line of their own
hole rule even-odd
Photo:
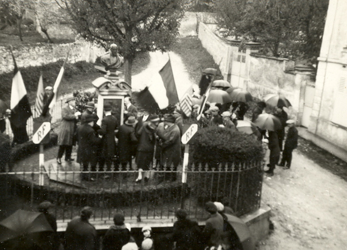
<svg viewBox="0 0 347 250">
<path fill-rule="evenodd" d="M 34 243 L 46 249 L 43 232 L 53 229 L 42 212 L 17 210 L 0 222 L 0 242 L 19 240 L 21 243 Z"/>
</svg>

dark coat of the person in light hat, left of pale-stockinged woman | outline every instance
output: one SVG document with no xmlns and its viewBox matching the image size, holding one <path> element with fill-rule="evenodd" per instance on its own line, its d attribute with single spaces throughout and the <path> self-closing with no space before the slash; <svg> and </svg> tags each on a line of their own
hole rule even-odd
<svg viewBox="0 0 347 250">
<path fill-rule="evenodd" d="M 134 154 L 134 148 L 137 142 L 137 138 L 135 137 L 135 128 L 123 124 L 119 127 L 116 136 L 118 138 L 119 160 L 121 162 L 130 161 Z"/>
</svg>

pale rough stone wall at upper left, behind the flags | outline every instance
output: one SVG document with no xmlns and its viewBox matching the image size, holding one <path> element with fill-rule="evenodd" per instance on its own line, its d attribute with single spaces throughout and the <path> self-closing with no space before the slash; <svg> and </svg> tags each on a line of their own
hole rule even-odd
<svg viewBox="0 0 347 250">
<path fill-rule="evenodd" d="M 11 47 L 0 46 L 0 54 L 3 57 L 0 60 L 0 74 L 11 72 L 14 69 L 10 49 L 16 58 L 18 67 L 40 66 L 64 60 L 68 51 L 70 51 L 69 62 L 94 62 L 97 56 L 105 53 L 105 49 L 85 40 L 77 40 L 76 42 L 65 44 L 37 43 L 35 45 Z"/>
</svg>

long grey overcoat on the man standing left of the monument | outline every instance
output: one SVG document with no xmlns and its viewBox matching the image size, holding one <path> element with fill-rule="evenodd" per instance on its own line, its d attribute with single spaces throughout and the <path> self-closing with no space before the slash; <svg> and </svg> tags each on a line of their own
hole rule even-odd
<svg viewBox="0 0 347 250">
<path fill-rule="evenodd" d="M 72 145 L 75 133 L 76 110 L 66 105 L 62 109 L 62 123 L 58 133 L 58 145 Z"/>
</svg>

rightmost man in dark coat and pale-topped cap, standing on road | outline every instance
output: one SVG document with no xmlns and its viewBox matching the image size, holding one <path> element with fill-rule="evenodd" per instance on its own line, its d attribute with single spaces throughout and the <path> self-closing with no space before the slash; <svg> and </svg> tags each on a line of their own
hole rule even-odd
<svg viewBox="0 0 347 250">
<path fill-rule="evenodd" d="M 290 119 L 290 120 L 287 120 L 286 123 L 289 126 L 289 129 L 288 129 L 287 137 L 284 143 L 282 160 L 281 160 L 281 163 L 278 164 L 280 166 L 285 166 L 284 169 L 290 168 L 292 151 L 297 147 L 297 139 L 298 139 L 298 133 L 295 127 L 295 121 Z M 285 164 L 285 162 L 287 164 Z"/>
</svg>

